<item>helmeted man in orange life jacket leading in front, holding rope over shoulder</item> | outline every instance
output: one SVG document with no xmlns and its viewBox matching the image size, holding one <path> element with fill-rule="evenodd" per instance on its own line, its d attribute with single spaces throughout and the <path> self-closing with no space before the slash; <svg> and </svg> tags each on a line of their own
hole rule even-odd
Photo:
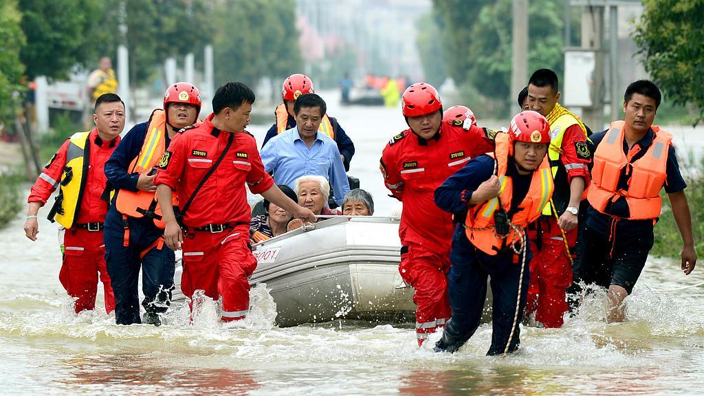
<svg viewBox="0 0 704 396">
<path fill-rule="evenodd" d="M 546 156 L 548 120 L 522 111 L 496 134 L 494 154 L 479 156 L 435 190 L 435 203 L 461 223 L 455 227 L 448 294 L 452 318 L 436 352 L 455 352 L 479 326 L 491 276 L 493 326 L 488 355 L 514 352 L 526 304 L 530 249 L 526 228 L 553 193 Z"/>
</svg>

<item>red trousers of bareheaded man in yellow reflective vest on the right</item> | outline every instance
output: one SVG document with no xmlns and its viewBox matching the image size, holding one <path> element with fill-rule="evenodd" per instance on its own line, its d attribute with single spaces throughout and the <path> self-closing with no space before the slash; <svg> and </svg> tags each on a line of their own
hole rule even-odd
<svg viewBox="0 0 704 396">
<path fill-rule="evenodd" d="M 567 311 L 565 290 L 572 284 L 572 264 L 565 240 L 554 217 L 538 219 L 539 230 L 529 230 L 528 239 L 533 259 L 530 261 L 530 285 L 524 315 L 536 312 L 536 322 L 546 328 L 562 326 L 562 315 Z M 577 228 L 565 231 L 567 244 L 574 251 Z M 538 249 L 540 241 L 540 249 Z"/>
</svg>

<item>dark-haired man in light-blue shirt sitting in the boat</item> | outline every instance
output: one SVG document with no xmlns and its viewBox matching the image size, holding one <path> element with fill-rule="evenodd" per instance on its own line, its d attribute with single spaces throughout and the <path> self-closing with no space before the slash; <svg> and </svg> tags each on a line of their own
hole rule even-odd
<svg viewBox="0 0 704 396">
<path fill-rule="evenodd" d="M 297 178 L 320 175 L 329 180 L 333 199 L 342 204 L 350 190 L 337 144 L 318 131 L 327 106 L 316 94 L 302 94 L 294 104 L 296 128 L 274 137 L 262 149 L 260 156 L 266 171 L 277 184 L 294 188 Z"/>
</svg>

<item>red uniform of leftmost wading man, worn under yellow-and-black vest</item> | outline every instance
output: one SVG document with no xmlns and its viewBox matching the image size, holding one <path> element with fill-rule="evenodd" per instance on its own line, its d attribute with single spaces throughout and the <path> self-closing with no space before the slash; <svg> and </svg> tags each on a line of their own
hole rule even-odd
<svg viewBox="0 0 704 396">
<path fill-rule="evenodd" d="M 94 309 L 100 278 L 105 291 L 105 309 L 109 313 L 115 309 L 115 297 L 106 269 L 103 245 L 103 221 L 108 211 L 108 203 L 101 199 L 101 195 L 107 182 L 103 166 L 120 142 L 120 137 L 103 142 L 97 129 L 74 135 L 58 149 L 49 163 L 46 163 L 37 182 L 32 185 L 27 202 L 39 202 L 44 206 L 62 181 L 64 185 L 70 183 L 71 178 L 67 178 L 66 166 L 67 162 L 70 162 L 69 151 L 75 151 L 75 142 L 81 140 L 86 144 L 82 149 L 78 149 L 82 172 L 80 178 L 73 180 L 74 183 L 80 183 L 80 188 L 76 189 L 77 197 L 63 197 L 65 202 L 75 202 L 75 206 L 67 203 L 68 206 L 62 208 L 64 213 L 73 212 L 74 215 L 60 221 L 70 227 L 64 235 L 63 266 L 59 280 L 68 295 L 77 298 L 75 311 L 79 312 Z M 73 159 L 78 160 L 78 157 Z M 85 161 L 87 165 L 84 164 Z M 78 173 L 76 170 L 76 174 Z"/>
</svg>

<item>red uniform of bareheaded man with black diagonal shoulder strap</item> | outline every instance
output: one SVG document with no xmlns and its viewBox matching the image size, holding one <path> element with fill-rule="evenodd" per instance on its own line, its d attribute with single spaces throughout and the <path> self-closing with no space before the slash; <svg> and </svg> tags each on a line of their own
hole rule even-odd
<svg viewBox="0 0 704 396">
<path fill-rule="evenodd" d="M 184 273 L 181 288 L 191 297 L 205 290 L 222 296 L 222 320 L 233 321 L 249 310 L 247 278 L 256 268 L 249 249 L 250 212 L 244 183 L 254 194 L 274 185 L 249 133 L 222 132 L 213 126 L 213 114 L 188 133 L 177 135 L 164 154 L 154 184 L 176 190 L 179 202 L 194 190 L 227 147 L 215 172 L 203 184 L 184 214 Z"/>
</svg>

